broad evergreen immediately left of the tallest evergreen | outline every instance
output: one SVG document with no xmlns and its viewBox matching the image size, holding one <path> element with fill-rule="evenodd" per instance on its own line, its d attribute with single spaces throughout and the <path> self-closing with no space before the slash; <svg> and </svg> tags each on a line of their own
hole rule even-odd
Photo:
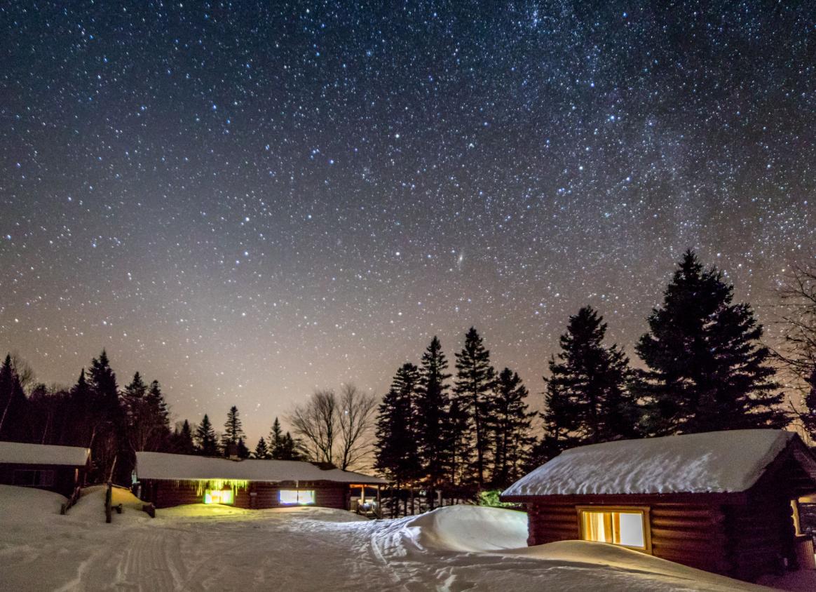
<svg viewBox="0 0 816 592">
<path fill-rule="evenodd" d="M 634 438 L 636 402 L 626 389 L 629 360 L 617 345 L 603 345 L 606 323 L 591 306 L 570 317 L 561 353 L 551 358 L 547 384 L 545 447 Z"/>
</svg>

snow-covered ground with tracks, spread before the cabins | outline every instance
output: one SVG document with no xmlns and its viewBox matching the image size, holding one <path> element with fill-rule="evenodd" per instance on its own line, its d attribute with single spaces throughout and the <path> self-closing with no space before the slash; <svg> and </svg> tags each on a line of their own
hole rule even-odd
<svg viewBox="0 0 816 592">
<path fill-rule="evenodd" d="M 62 496 L 0 485 L 0 590 L 761 590 L 605 545 L 525 547 L 526 515 L 452 506 L 369 521 L 322 508 L 188 505 L 150 519 L 104 488 Z"/>
</svg>

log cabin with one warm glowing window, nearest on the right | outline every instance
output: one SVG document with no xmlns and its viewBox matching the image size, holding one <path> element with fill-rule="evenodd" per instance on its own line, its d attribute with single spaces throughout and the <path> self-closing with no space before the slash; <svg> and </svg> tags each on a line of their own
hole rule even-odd
<svg viewBox="0 0 816 592">
<path fill-rule="evenodd" d="M 783 430 L 731 430 L 575 447 L 513 483 L 528 545 L 622 545 L 755 581 L 814 567 L 798 501 L 816 492 L 816 457 Z"/>
</svg>

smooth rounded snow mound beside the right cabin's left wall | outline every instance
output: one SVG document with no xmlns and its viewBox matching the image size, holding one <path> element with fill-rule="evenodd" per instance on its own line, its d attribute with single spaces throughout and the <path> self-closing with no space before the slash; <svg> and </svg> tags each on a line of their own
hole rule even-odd
<svg viewBox="0 0 816 592">
<path fill-rule="evenodd" d="M 411 536 L 427 549 L 493 551 L 523 547 L 527 514 L 477 505 L 450 505 L 412 517 Z"/>
</svg>

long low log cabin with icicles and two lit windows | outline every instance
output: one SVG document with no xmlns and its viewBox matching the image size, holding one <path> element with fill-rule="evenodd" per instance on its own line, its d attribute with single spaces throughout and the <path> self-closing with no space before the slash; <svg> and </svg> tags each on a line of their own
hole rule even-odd
<svg viewBox="0 0 816 592">
<path fill-rule="evenodd" d="M 164 452 L 136 452 L 144 501 L 156 508 L 226 504 L 247 510 L 297 505 L 349 510 L 353 492 L 385 479 L 306 461 L 237 460 Z"/>
</svg>

